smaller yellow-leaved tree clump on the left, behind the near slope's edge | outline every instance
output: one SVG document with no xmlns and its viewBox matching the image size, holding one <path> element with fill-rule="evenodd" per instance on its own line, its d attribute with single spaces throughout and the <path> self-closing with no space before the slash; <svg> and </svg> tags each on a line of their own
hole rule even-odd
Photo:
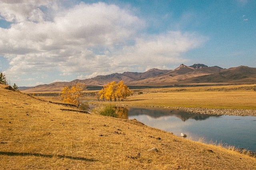
<svg viewBox="0 0 256 170">
<path fill-rule="evenodd" d="M 77 83 L 75 86 L 64 87 L 61 92 L 62 101 L 79 106 L 79 98 L 82 96 L 82 91 L 85 88 L 86 86 L 84 83 Z"/>
</svg>

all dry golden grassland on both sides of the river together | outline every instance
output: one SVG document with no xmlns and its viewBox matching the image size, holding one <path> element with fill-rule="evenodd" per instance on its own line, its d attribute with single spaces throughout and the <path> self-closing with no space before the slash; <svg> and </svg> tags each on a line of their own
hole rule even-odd
<svg viewBox="0 0 256 170">
<path fill-rule="evenodd" d="M 83 100 L 121 106 L 245 109 L 255 116 L 255 87 L 134 90 L 125 102 L 98 102 L 96 91 L 85 91 Z M 58 96 L 38 98 L 5 88 L 0 85 L 0 169 L 256 169 L 255 158 L 232 148 L 176 137 L 136 120 L 65 111 L 70 108 L 48 102 L 60 102 Z M 158 151 L 149 151 L 152 148 Z"/>
</svg>

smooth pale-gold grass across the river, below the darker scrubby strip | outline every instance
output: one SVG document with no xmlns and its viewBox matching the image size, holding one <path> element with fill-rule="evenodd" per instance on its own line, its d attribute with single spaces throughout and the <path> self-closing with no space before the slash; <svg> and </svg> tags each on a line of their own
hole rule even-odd
<svg viewBox="0 0 256 170">
<path fill-rule="evenodd" d="M 128 105 L 256 109 L 256 92 L 171 92 L 131 96 Z"/>
</svg>

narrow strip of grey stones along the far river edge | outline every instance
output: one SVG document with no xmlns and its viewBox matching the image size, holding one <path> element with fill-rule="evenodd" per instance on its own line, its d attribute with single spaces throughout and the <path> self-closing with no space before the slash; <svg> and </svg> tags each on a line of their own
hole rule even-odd
<svg viewBox="0 0 256 170">
<path fill-rule="evenodd" d="M 125 105 L 125 106 L 130 106 L 130 105 Z M 177 109 L 177 110 L 186 111 L 194 114 L 206 114 L 206 115 L 256 116 L 256 109 L 218 109 L 218 108 L 199 108 L 199 107 L 192 108 L 192 107 L 172 107 L 172 106 L 137 106 L 137 105 L 131 105 L 130 107 L 170 108 L 170 109 Z"/>
</svg>

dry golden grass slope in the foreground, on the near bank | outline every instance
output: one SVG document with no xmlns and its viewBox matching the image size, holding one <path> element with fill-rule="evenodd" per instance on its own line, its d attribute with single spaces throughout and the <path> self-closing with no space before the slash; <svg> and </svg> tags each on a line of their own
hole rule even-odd
<svg viewBox="0 0 256 170">
<path fill-rule="evenodd" d="M 5 87 L 0 85 L 0 169 L 256 169 L 255 158 L 236 151 L 136 120 L 63 111 Z M 154 147 L 158 151 L 148 151 Z"/>
</svg>

